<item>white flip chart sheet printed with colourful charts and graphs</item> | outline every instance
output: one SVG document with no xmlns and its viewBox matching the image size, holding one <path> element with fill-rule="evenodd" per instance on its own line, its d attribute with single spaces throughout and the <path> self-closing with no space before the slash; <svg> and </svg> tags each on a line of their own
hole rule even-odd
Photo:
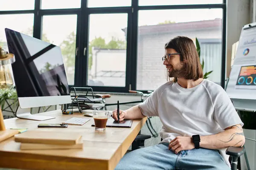
<svg viewBox="0 0 256 170">
<path fill-rule="evenodd" d="M 241 32 L 226 92 L 232 99 L 256 99 L 256 27 Z"/>
</svg>

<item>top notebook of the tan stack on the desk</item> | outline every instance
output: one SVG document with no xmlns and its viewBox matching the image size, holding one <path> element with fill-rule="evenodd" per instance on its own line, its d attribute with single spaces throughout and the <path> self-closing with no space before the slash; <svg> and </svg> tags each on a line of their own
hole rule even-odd
<svg viewBox="0 0 256 170">
<path fill-rule="evenodd" d="M 15 135 L 15 142 L 70 145 L 77 144 L 80 138 L 81 134 L 76 132 L 28 130 Z"/>
</svg>

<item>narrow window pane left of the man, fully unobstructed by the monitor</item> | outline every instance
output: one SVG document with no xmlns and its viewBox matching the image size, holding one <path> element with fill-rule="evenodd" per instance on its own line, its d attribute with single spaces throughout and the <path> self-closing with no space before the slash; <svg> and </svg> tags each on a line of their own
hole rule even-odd
<svg viewBox="0 0 256 170">
<path fill-rule="evenodd" d="M 91 14 L 89 86 L 125 86 L 127 14 Z"/>
</svg>

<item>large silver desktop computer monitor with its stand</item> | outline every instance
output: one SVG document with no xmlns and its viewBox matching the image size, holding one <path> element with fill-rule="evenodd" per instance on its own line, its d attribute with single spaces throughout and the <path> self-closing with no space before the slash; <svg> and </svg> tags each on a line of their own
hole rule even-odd
<svg viewBox="0 0 256 170">
<path fill-rule="evenodd" d="M 19 100 L 16 116 L 46 120 L 30 108 L 71 102 L 61 48 L 49 42 L 6 28 L 9 53 L 15 55 L 12 71 Z"/>
</svg>

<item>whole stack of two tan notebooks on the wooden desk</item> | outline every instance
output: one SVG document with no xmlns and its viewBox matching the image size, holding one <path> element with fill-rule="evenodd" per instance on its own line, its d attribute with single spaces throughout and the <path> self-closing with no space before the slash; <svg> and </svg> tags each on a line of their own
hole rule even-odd
<svg viewBox="0 0 256 170">
<path fill-rule="evenodd" d="M 20 150 L 78 149 L 83 148 L 80 133 L 28 130 L 15 135 L 15 142 L 21 142 Z"/>
</svg>

